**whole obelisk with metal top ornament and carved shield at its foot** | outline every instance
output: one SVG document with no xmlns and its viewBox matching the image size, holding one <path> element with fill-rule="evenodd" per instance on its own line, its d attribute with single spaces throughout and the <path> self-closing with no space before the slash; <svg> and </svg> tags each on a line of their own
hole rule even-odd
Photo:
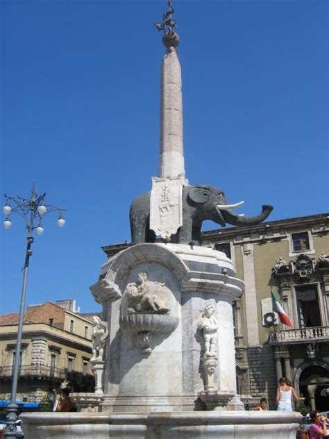
<svg viewBox="0 0 329 439">
<path fill-rule="evenodd" d="M 167 48 L 161 66 L 160 156 L 158 177 L 152 178 L 150 228 L 156 235 L 169 239 L 183 224 L 182 191 L 187 185 L 183 154 L 182 76 L 176 48 L 179 37 L 174 31 L 174 9 L 163 14 L 163 44 Z"/>
</svg>

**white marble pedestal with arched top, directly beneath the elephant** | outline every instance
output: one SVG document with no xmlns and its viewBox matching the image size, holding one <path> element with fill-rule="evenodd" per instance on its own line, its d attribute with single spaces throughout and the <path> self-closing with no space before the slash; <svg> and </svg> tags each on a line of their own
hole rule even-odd
<svg viewBox="0 0 329 439">
<path fill-rule="evenodd" d="M 128 284 L 139 285 L 141 273 L 147 275 L 149 290 L 169 308 L 167 313 L 129 308 L 124 292 Z M 232 261 L 204 247 L 139 244 L 110 258 L 101 281 L 91 287 L 109 330 L 103 411 L 205 409 L 198 397 L 205 389 L 198 322 L 208 304 L 219 322 L 212 389 L 227 405 L 236 394 L 232 302 L 243 288 Z"/>
</svg>

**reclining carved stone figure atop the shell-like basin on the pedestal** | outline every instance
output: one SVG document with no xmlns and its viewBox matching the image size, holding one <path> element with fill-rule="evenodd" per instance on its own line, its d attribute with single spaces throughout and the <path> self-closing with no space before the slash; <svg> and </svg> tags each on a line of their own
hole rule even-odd
<svg viewBox="0 0 329 439">
<path fill-rule="evenodd" d="M 130 282 L 124 294 L 128 299 L 128 313 L 168 313 L 169 308 L 158 297 L 158 287 L 164 283 L 151 282 L 144 272 L 138 273 L 138 282 Z"/>
</svg>

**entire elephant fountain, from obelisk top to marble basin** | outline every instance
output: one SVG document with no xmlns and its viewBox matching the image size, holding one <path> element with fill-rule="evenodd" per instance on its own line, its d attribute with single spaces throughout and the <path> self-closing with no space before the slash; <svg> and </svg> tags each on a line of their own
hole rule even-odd
<svg viewBox="0 0 329 439">
<path fill-rule="evenodd" d="M 26 438 L 296 438 L 299 413 L 244 411 L 237 395 L 232 306 L 244 282 L 225 254 L 200 247 L 201 225 L 258 224 L 272 207 L 243 217 L 222 190 L 189 185 L 168 4 L 155 24 L 166 47 L 159 174 L 130 208 L 132 245 L 90 287 L 103 307 L 93 333 L 95 392 L 73 395 L 78 413 L 24 414 Z"/>
</svg>

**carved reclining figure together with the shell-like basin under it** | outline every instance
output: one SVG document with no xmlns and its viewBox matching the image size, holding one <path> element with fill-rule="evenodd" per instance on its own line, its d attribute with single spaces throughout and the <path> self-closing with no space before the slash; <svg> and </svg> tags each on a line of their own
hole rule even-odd
<svg viewBox="0 0 329 439">
<path fill-rule="evenodd" d="M 178 325 L 178 317 L 169 315 L 169 295 L 165 283 L 149 281 L 145 272 L 138 273 L 137 282 L 126 286 L 127 313 L 119 317 L 119 325 L 122 331 L 137 335 L 142 354 L 151 354 L 152 333 L 168 333 Z"/>
</svg>

